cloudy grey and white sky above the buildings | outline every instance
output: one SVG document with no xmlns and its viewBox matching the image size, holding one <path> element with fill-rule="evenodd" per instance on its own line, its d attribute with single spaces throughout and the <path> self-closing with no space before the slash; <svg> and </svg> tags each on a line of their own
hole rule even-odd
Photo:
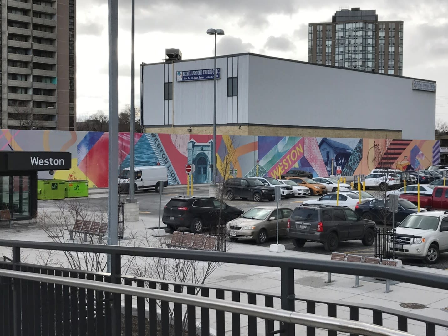
<svg viewBox="0 0 448 336">
<path fill-rule="evenodd" d="M 218 55 L 254 52 L 308 59 L 308 23 L 331 21 L 340 6 L 376 9 L 379 20 L 404 21 L 403 75 L 437 81 L 436 117 L 448 122 L 448 1 L 135 0 L 135 103 L 140 64 L 160 62 L 165 48 L 184 60 L 213 56 L 208 28 L 221 28 Z M 130 0 L 119 1 L 119 107 L 130 99 Z M 77 113 L 108 110 L 107 0 L 77 1 Z M 425 111 L 422 111 L 423 113 Z"/>
</svg>

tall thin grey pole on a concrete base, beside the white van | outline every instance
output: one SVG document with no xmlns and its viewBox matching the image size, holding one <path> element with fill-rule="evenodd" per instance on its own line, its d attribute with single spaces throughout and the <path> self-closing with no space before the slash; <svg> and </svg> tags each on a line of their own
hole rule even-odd
<svg viewBox="0 0 448 336">
<path fill-rule="evenodd" d="M 130 117 L 130 151 L 129 151 L 129 199 L 127 202 L 134 203 L 134 130 L 135 130 L 135 107 L 134 107 L 134 0 L 131 5 L 131 117 Z"/>
</svg>

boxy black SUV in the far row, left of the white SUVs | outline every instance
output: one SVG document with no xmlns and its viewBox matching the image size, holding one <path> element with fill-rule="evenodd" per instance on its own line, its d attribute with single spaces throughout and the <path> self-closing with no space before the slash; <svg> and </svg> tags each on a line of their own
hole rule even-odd
<svg viewBox="0 0 448 336">
<path fill-rule="evenodd" d="M 229 201 L 240 197 L 242 199 L 252 198 L 255 202 L 263 199 L 273 201 L 275 190 L 267 187 L 256 178 L 229 178 L 224 185 L 225 194 Z"/>
</svg>

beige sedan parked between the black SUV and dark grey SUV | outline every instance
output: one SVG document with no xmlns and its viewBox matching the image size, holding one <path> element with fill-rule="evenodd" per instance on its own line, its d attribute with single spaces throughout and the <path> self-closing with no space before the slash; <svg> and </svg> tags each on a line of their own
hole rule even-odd
<svg viewBox="0 0 448 336">
<path fill-rule="evenodd" d="M 292 212 L 288 207 L 279 207 L 279 236 L 286 235 L 286 225 Z M 263 244 L 269 237 L 276 237 L 277 208 L 254 207 L 228 222 L 226 227 L 231 241 L 255 240 L 258 244 Z"/>
</svg>

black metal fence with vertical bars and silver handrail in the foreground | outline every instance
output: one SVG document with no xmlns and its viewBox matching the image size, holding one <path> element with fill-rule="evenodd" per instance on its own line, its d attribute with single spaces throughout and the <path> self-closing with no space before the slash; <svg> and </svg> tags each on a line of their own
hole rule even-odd
<svg viewBox="0 0 448 336">
<path fill-rule="evenodd" d="M 316 328 L 327 330 L 328 336 L 336 336 L 337 332 L 348 332 L 353 336 L 405 336 L 402 332 L 407 332 L 408 328 L 414 330 L 412 328 L 418 324 L 425 330 L 420 335 L 447 334 L 446 319 L 383 306 L 318 300 L 295 293 L 296 270 L 380 277 L 447 290 L 448 277 L 439 274 L 431 274 L 431 281 L 428 281 L 424 272 L 394 267 L 369 264 L 353 267 L 349 263 L 326 260 L 213 251 L 204 253 L 198 250 L 7 240 L 0 240 L 0 246 L 13 249 L 12 262 L 0 262 L 0 269 L 3 269 L 0 271 L 0 335 L 118 336 L 123 332 L 125 336 L 133 336 L 133 326 L 137 326 L 139 336 L 158 335 L 158 332 L 163 336 L 181 336 L 185 335 L 185 331 L 189 336 L 209 336 L 211 329 L 216 331 L 216 336 L 224 336 L 229 330 L 237 336 L 241 335 L 241 327 L 247 326 L 243 334 L 249 336 L 259 335 L 260 332 L 264 335 L 315 336 Z M 111 272 L 21 263 L 22 248 L 110 254 Z M 123 275 L 123 256 L 275 267 L 280 269 L 280 295 Z M 303 310 L 304 304 L 307 314 L 294 313 Z M 277 308 L 276 314 L 273 314 L 273 307 Z M 370 323 L 357 322 L 363 310 L 371 312 Z M 319 316 L 316 318 L 313 315 Z M 342 315 L 349 316 L 349 320 L 336 318 Z M 383 319 L 389 318 L 388 321 L 391 321 L 390 315 L 396 320 L 393 327 L 396 330 L 379 329 Z M 257 317 L 264 319 L 265 323 L 257 323 Z"/>
</svg>

